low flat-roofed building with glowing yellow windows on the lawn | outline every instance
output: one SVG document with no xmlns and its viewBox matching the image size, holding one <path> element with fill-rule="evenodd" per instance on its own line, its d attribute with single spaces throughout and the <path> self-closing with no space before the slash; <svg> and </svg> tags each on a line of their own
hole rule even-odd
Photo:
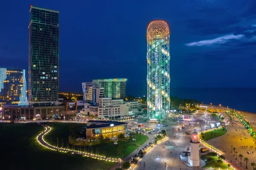
<svg viewBox="0 0 256 170">
<path fill-rule="evenodd" d="M 104 139 L 112 137 L 117 138 L 120 133 L 128 133 L 127 126 L 127 122 L 89 120 L 85 127 L 86 138 L 91 140 L 99 135 L 102 135 Z"/>
</svg>

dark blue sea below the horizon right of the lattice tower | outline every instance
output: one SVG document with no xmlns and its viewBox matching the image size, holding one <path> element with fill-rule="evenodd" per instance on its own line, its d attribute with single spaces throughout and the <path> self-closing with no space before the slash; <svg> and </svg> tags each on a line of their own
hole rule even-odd
<svg viewBox="0 0 256 170">
<path fill-rule="evenodd" d="M 170 88 L 170 96 L 256 113 L 256 88 Z"/>
</svg>

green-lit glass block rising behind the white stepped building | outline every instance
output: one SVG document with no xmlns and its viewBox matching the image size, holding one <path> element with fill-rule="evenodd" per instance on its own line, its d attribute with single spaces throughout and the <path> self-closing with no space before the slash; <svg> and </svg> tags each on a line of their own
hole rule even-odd
<svg viewBox="0 0 256 170">
<path fill-rule="evenodd" d="M 112 99 L 125 99 L 127 79 L 94 79 L 93 84 L 104 88 L 104 96 Z"/>
</svg>

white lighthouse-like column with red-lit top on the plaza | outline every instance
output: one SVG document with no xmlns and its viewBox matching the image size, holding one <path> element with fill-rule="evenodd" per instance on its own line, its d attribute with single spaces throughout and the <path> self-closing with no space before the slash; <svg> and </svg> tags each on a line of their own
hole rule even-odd
<svg viewBox="0 0 256 170">
<path fill-rule="evenodd" d="M 200 158 L 199 158 L 199 144 L 198 141 L 198 133 L 192 133 L 192 139 L 190 141 L 190 155 L 189 155 L 189 164 L 192 167 L 200 166 Z"/>
</svg>

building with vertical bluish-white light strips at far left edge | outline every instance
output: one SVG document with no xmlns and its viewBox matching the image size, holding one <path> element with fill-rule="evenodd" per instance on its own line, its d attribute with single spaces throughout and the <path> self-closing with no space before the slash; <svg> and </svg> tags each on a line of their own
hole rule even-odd
<svg viewBox="0 0 256 170">
<path fill-rule="evenodd" d="M 26 71 L 20 68 L 0 68 L 0 106 L 28 105 Z"/>
</svg>

